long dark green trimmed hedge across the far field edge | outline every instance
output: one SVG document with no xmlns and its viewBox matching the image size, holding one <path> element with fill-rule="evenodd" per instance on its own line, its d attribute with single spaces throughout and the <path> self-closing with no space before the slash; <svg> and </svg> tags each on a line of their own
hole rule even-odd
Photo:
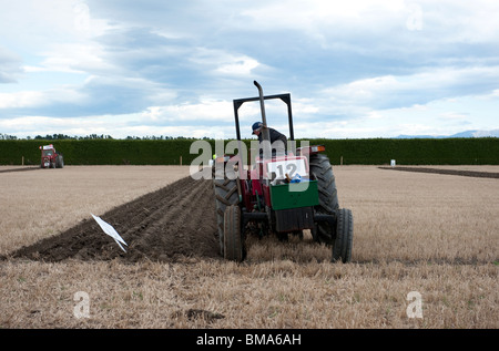
<svg viewBox="0 0 499 351">
<path fill-rule="evenodd" d="M 397 165 L 499 165 L 499 138 L 364 138 L 310 140 L 310 145 L 326 146 L 332 164 Z M 190 140 L 62 140 L 62 141 L 0 141 L 1 165 L 38 165 L 40 145 L 52 143 L 64 155 L 67 165 L 189 165 L 200 159 L 201 149 L 190 149 Z M 208 141 L 210 158 L 215 141 Z M 245 141 L 249 149 L 251 141 Z M 302 141 L 297 141 L 301 146 Z"/>
</svg>

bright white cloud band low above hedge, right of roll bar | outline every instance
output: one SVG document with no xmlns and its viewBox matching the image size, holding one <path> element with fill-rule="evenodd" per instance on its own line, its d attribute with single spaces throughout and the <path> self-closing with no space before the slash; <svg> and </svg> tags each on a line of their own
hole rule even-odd
<svg viewBox="0 0 499 351">
<path fill-rule="evenodd" d="M 366 109 L 358 114 L 320 122 L 295 118 L 297 137 L 330 138 L 390 137 L 406 135 L 451 135 L 467 130 L 493 130 L 499 99 L 482 95 L 434 100 L 427 104 L 397 109 Z M 356 111 L 358 112 L 358 111 Z M 491 123 L 492 122 L 492 123 Z"/>
</svg>

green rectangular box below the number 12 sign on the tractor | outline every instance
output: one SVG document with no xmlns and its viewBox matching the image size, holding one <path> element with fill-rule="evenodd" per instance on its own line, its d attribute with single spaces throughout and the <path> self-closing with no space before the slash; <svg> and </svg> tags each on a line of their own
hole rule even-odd
<svg viewBox="0 0 499 351">
<path fill-rule="evenodd" d="M 317 180 L 271 185 L 275 210 L 318 205 Z"/>
</svg>

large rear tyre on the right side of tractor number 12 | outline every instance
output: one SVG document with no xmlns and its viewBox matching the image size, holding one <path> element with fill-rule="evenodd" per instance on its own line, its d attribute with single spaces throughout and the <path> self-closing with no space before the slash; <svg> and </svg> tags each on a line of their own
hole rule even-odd
<svg viewBox="0 0 499 351">
<path fill-rule="evenodd" d="M 329 158 L 324 154 L 310 155 L 310 174 L 317 179 L 319 204 L 315 211 L 320 215 L 334 215 L 339 208 L 335 176 Z M 318 242 L 333 245 L 336 228 L 330 228 L 328 223 L 319 223 L 315 239 Z"/>
</svg>

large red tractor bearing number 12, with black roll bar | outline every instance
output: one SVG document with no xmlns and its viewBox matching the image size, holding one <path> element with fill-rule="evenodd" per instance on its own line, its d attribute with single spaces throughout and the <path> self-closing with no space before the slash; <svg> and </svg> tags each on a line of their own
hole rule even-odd
<svg viewBox="0 0 499 351">
<path fill-rule="evenodd" d="M 261 237 L 289 235 L 303 238 L 310 230 L 313 240 L 332 248 L 332 261 L 349 262 L 354 236 L 350 209 L 339 208 L 335 177 L 324 145 L 296 148 L 291 94 L 264 95 L 258 82 L 258 96 L 233 101 L 240 153 L 215 157 L 212 166 L 220 252 L 241 262 L 246 258 L 246 233 Z M 278 99 L 287 105 L 288 145 L 284 155 L 269 143 L 265 100 Z M 238 109 L 246 102 L 259 101 L 263 141 L 251 166 L 241 156 L 242 138 Z M 256 230 L 249 229 L 256 228 Z"/>
</svg>

